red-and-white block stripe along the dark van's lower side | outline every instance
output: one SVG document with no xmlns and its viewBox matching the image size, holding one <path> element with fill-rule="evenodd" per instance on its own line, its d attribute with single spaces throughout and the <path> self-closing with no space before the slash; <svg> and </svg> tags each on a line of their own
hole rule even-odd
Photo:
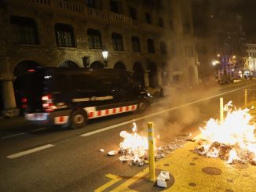
<svg viewBox="0 0 256 192">
<path fill-rule="evenodd" d="M 112 114 L 122 114 L 137 110 L 137 104 L 127 105 L 123 107 L 114 107 L 111 109 L 96 110 L 96 107 L 85 107 L 83 110 L 86 110 L 87 118 L 101 118 Z M 62 125 L 68 122 L 69 116 L 59 116 L 54 118 L 55 125 Z"/>
</svg>

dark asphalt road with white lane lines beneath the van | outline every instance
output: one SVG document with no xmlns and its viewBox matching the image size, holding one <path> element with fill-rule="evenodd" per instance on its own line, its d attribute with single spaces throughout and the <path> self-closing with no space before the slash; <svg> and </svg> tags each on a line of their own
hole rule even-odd
<svg viewBox="0 0 256 192">
<path fill-rule="evenodd" d="M 93 191 L 111 180 L 108 174 L 129 179 L 144 167 L 122 163 L 108 151 L 119 150 L 119 133 L 131 132 L 133 121 L 144 136 L 147 122 L 153 121 L 157 145 L 163 146 L 188 132 L 196 136 L 204 121 L 218 118 L 220 97 L 243 107 L 244 89 L 250 89 L 251 99 L 256 82 L 172 92 L 144 114 L 93 120 L 77 130 L 33 125 L 22 118 L 1 120 L 0 191 Z"/>
</svg>

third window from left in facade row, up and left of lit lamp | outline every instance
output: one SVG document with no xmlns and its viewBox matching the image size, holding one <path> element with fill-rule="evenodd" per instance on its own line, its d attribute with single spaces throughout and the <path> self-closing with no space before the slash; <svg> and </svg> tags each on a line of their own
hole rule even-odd
<svg viewBox="0 0 256 192">
<path fill-rule="evenodd" d="M 88 29 L 87 36 L 88 36 L 88 44 L 90 49 L 102 48 L 101 31 L 98 31 L 96 29 Z"/>
</svg>

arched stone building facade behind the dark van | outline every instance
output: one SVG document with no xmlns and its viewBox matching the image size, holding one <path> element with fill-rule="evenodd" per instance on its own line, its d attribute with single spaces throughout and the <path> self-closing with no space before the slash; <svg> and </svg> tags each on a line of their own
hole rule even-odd
<svg viewBox="0 0 256 192">
<path fill-rule="evenodd" d="M 0 110 L 17 113 L 16 77 L 35 67 L 108 67 L 157 92 L 197 85 L 191 6 L 185 0 L 3 0 Z M 106 62 L 107 63 L 107 62 Z"/>
</svg>

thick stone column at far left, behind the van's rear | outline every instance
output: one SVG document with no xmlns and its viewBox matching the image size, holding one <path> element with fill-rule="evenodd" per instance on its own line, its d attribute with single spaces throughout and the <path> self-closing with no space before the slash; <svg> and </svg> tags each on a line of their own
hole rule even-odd
<svg viewBox="0 0 256 192">
<path fill-rule="evenodd" d="M 13 78 L 4 78 L 2 80 L 2 101 L 4 106 L 2 114 L 5 117 L 16 117 L 19 114 L 20 111 L 16 108 Z"/>
</svg>

